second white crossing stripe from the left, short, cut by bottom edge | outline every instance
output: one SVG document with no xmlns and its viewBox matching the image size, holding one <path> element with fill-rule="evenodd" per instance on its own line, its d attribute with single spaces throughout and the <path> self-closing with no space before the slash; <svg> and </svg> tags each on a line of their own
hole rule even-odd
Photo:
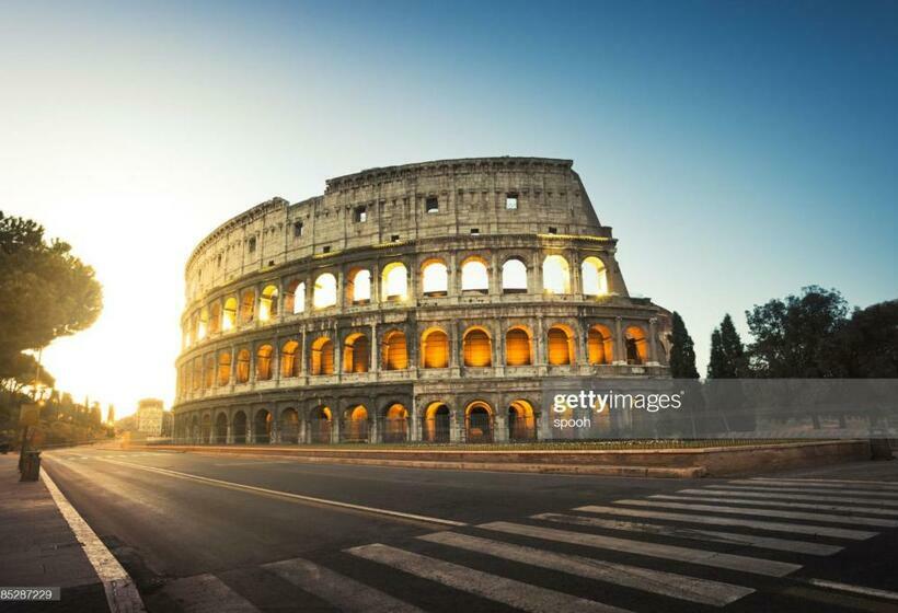
<svg viewBox="0 0 898 613">
<path fill-rule="evenodd" d="M 422 611 L 417 606 L 308 559 L 285 559 L 264 564 L 262 568 L 330 602 L 341 611 L 350 613 L 419 613 Z"/>
</svg>

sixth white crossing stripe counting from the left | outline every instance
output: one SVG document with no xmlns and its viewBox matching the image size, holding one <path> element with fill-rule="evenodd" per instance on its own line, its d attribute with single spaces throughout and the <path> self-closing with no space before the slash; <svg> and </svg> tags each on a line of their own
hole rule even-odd
<svg viewBox="0 0 898 613">
<path fill-rule="evenodd" d="M 645 534 L 657 534 L 660 536 L 688 539 L 690 541 L 706 541 L 710 543 L 748 545 L 750 547 L 775 550 L 780 552 L 793 552 L 798 554 L 825 556 L 832 555 L 842 551 L 842 547 L 839 547 L 837 545 L 822 545 L 819 543 L 808 543 L 807 541 L 793 541 L 792 539 L 776 539 L 773 536 L 758 536 L 755 534 L 739 534 L 736 532 L 698 530 L 694 528 L 680 528 L 676 525 L 661 525 L 657 523 L 638 523 L 632 521 L 621 521 L 615 519 L 601 519 L 584 516 L 566 516 L 561 513 L 540 513 L 530 517 L 532 519 L 552 521 L 555 523 L 586 525 L 591 528 L 606 528 L 609 530 L 626 530 L 630 532 L 643 532 Z"/>
</svg>

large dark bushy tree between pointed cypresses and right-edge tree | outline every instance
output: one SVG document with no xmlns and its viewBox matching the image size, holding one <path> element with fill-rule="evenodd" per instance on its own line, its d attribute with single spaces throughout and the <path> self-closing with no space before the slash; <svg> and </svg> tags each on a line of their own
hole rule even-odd
<svg viewBox="0 0 898 613">
<path fill-rule="evenodd" d="M 817 286 L 746 311 L 755 338 L 748 348 L 752 373 L 774 379 L 825 377 L 824 348 L 845 323 L 847 313 L 841 293 Z"/>
</svg>

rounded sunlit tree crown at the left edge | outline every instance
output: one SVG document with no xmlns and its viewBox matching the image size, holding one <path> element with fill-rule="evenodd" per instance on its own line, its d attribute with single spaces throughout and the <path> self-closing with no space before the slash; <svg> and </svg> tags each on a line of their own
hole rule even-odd
<svg viewBox="0 0 898 613">
<path fill-rule="evenodd" d="M 44 228 L 0 211 L 0 368 L 22 351 L 89 327 L 102 309 L 94 270 Z"/>
</svg>

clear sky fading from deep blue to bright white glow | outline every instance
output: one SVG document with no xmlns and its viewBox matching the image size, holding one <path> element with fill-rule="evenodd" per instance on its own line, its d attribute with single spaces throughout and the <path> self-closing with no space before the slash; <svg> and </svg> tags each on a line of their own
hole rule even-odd
<svg viewBox="0 0 898 613">
<path fill-rule="evenodd" d="M 898 298 L 898 3 L 0 3 L 0 210 L 94 266 L 97 322 L 43 352 L 118 416 L 171 406 L 184 265 L 327 177 L 574 160 L 633 294 L 704 372 L 732 313 L 811 284 Z M 748 338 L 746 338 L 748 339 Z"/>
</svg>

